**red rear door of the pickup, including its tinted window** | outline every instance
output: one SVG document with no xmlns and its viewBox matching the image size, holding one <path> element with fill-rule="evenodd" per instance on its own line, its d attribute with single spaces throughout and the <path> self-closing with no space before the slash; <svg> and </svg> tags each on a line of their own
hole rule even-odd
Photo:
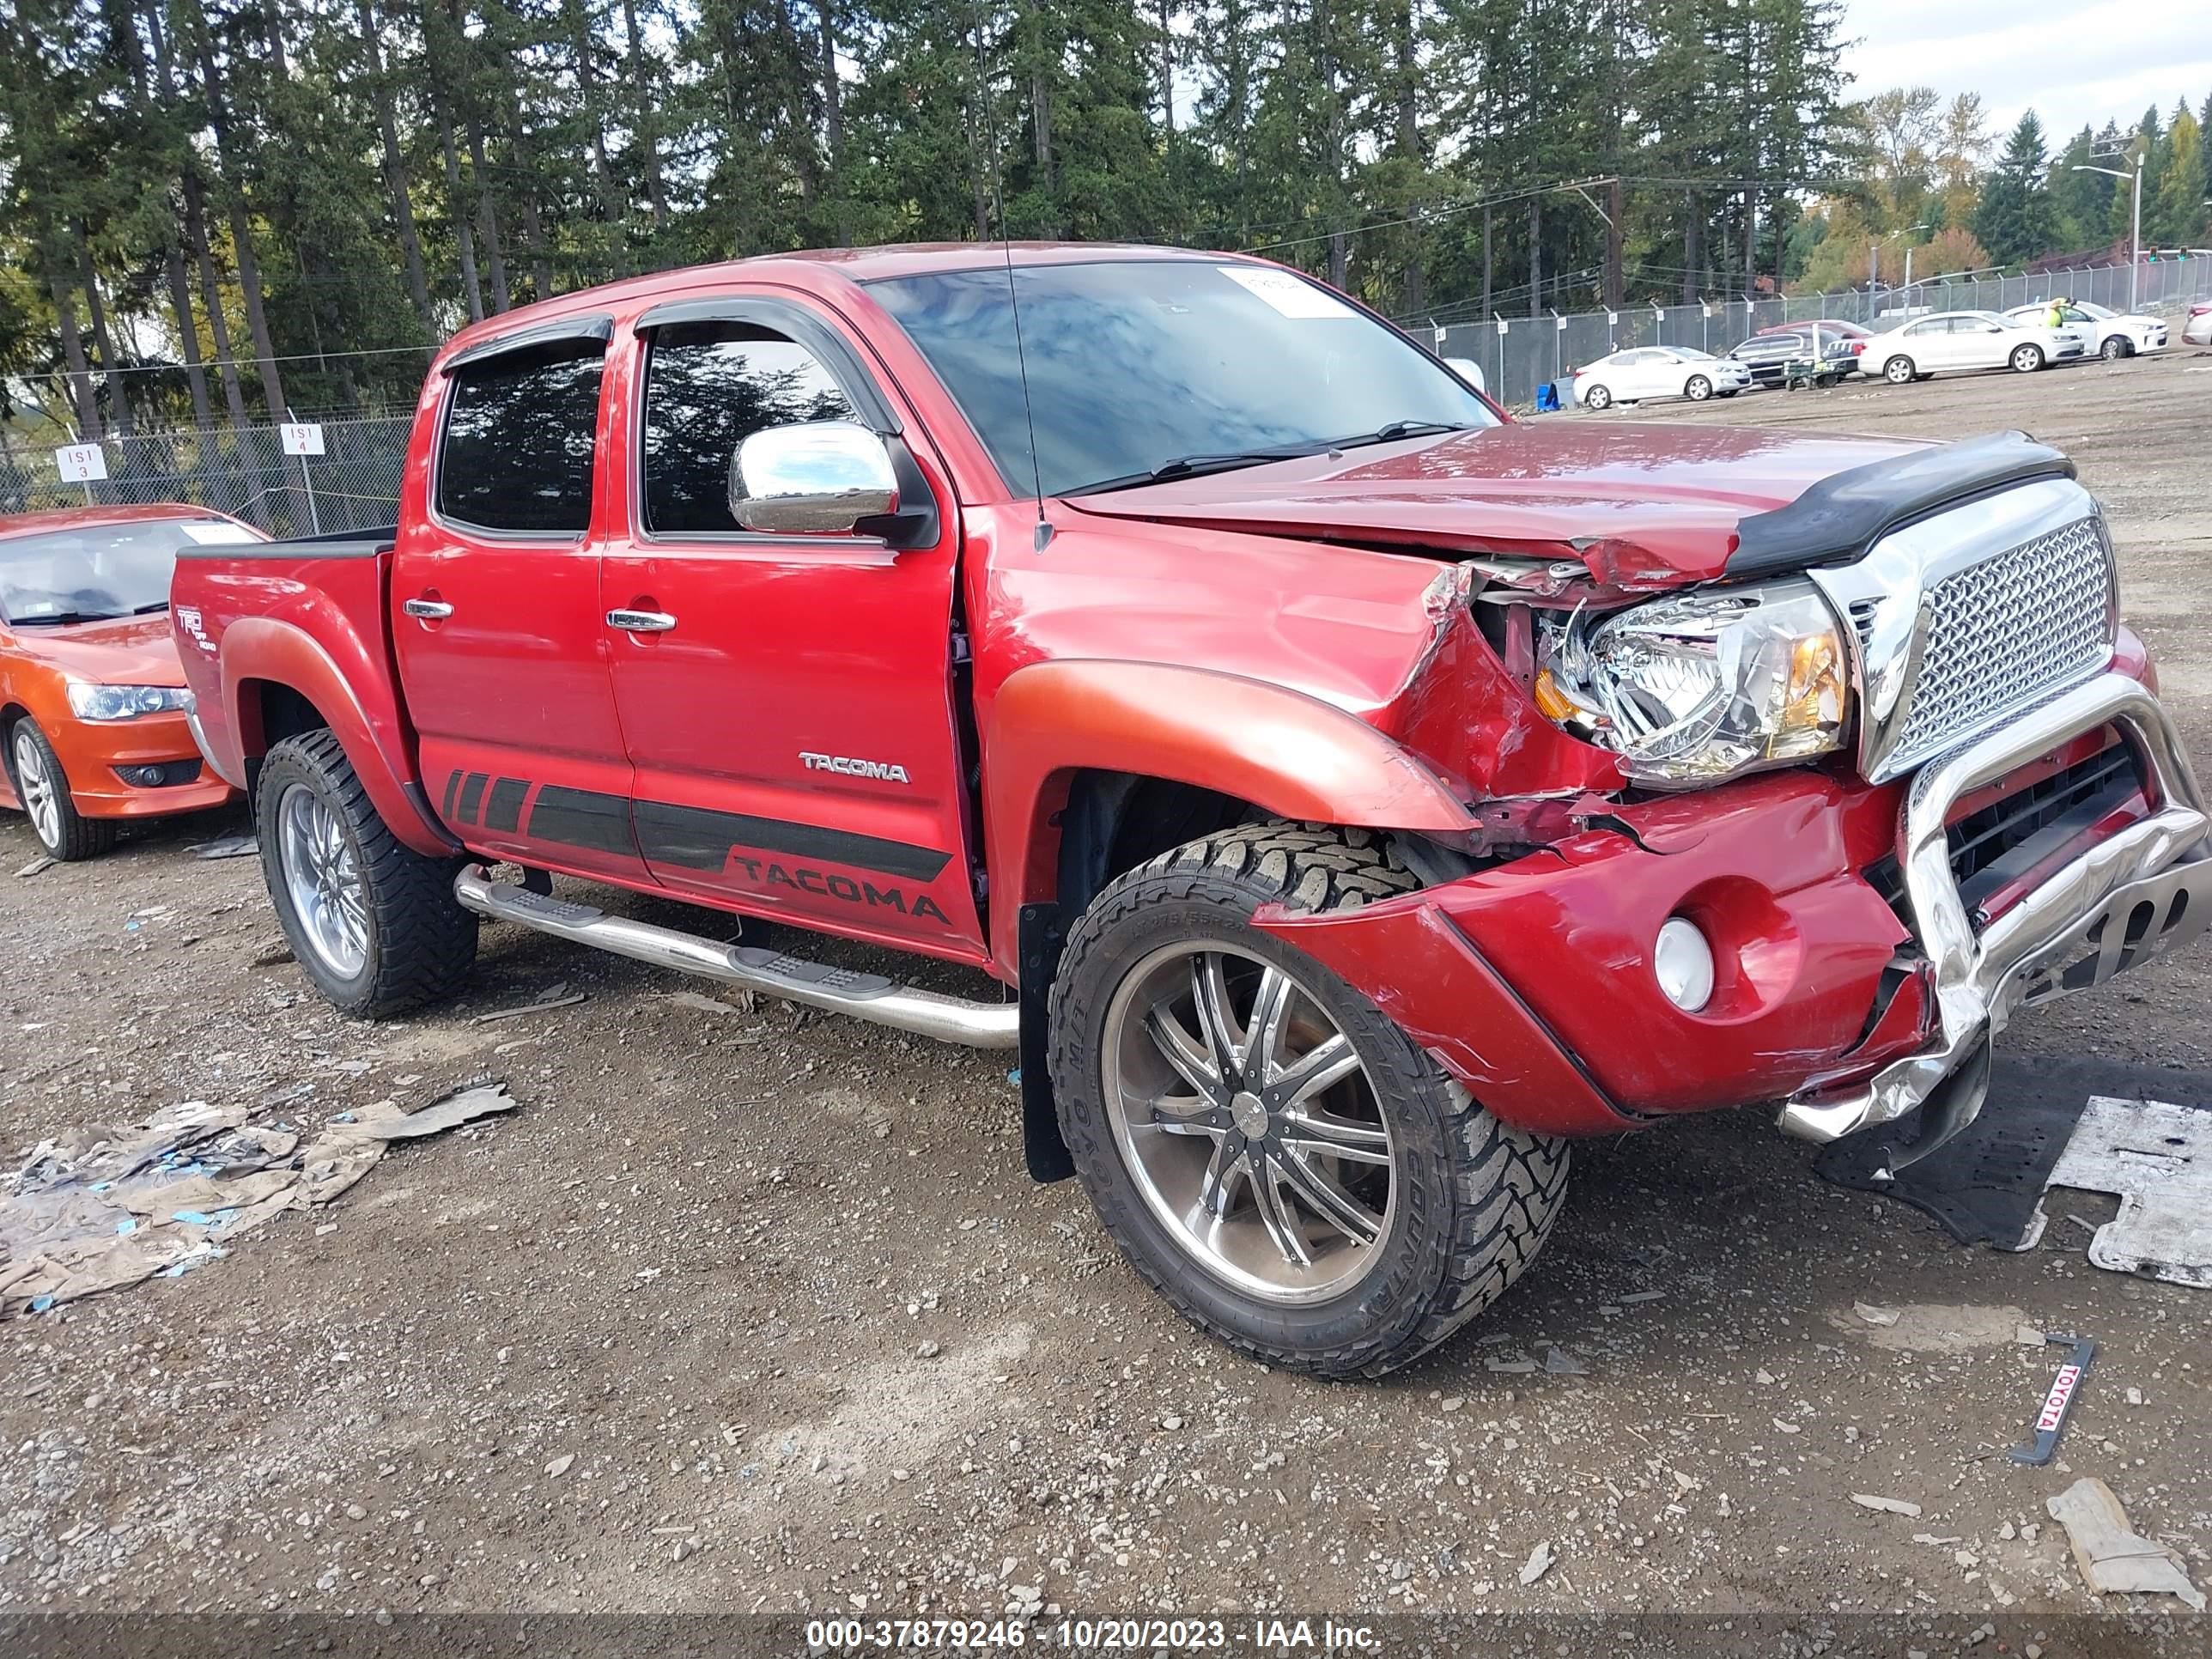
<svg viewBox="0 0 2212 1659">
<path fill-rule="evenodd" d="M 611 334 L 571 319 L 449 361 L 392 637 L 422 781 L 462 841 L 646 885 L 591 535 Z"/>
</svg>

